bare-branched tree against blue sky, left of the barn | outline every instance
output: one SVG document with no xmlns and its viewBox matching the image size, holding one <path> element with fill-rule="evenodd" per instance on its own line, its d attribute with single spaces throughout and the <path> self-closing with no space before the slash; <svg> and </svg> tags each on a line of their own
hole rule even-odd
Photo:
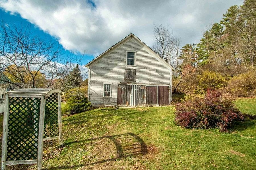
<svg viewBox="0 0 256 170">
<path fill-rule="evenodd" d="M 67 76 L 74 67 L 81 67 L 82 57 L 62 53 L 58 43 L 38 37 L 30 25 L 0 26 L 0 71 L 10 80 L 2 80 L 13 88 L 60 88 L 85 78 Z M 79 70 L 80 71 L 80 70 Z"/>
</svg>

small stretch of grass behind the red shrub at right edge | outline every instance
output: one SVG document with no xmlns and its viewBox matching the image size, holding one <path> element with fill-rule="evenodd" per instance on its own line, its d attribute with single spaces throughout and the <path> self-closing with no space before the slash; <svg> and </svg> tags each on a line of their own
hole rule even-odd
<svg viewBox="0 0 256 170">
<path fill-rule="evenodd" d="M 256 114 L 256 98 L 238 98 L 235 101 L 236 107 L 246 114 Z"/>
</svg>

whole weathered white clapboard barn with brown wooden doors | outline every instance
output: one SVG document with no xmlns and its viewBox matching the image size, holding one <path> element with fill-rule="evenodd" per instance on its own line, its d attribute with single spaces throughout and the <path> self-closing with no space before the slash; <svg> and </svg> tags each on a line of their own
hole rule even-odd
<svg viewBox="0 0 256 170">
<path fill-rule="evenodd" d="M 172 100 L 174 67 L 132 33 L 85 66 L 94 107 L 169 105 Z"/>
</svg>

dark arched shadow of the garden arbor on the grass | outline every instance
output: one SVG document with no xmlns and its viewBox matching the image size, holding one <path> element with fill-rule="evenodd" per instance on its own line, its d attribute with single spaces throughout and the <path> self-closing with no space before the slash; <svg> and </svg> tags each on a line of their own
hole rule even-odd
<svg viewBox="0 0 256 170">
<path fill-rule="evenodd" d="M 138 135 L 135 135 L 134 133 L 124 133 L 121 135 L 106 135 L 98 138 L 92 138 L 92 139 L 85 139 L 81 141 L 72 141 L 72 142 L 67 142 L 64 143 L 64 145 L 72 145 L 75 143 L 85 143 L 89 141 L 89 144 L 92 143 L 92 145 L 97 145 L 95 140 L 100 140 L 100 139 L 109 139 L 110 141 L 113 142 L 115 145 L 115 150 L 116 150 L 116 157 L 115 158 L 109 158 L 109 159 L 103 159 L 100 161 L 96 162 L 90 162 L 90 163 L 85 163 L 85 164 L 80 164 L 80 165 L 71 165 L 71 166 L 59 166 L 59 167 L 52 167 L 48 169 L 70 169 L 70 168 L 79 168 L 79 167 L 85 167 L 89 165 L 95 165 L 98 163 L 104 163 L 104 162 L 109 162 L 109 161 L 114 161 L 114 160 L 119 160 L 122 158 L 127 158 L 130 156 L 138 156 L 138 155 L 145 155 L 148 153 L 148 148 L 146 146 L 146 143 L 139 137 Z M 124 147 L 125 145 L 125 147 Z M 99 151 L 100 152 L 100 151 Z M 111 151 L 109 151 L 111 152 Z"/>
</svg>

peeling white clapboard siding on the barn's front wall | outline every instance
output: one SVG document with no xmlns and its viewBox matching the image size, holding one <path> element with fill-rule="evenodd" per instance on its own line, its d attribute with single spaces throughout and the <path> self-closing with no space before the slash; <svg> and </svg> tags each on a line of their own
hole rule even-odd
<svg viewBox="0 0 256 170">
<path fill-rule="evenodd" d="M 117 84 L 124 82 L 125 69 L 136 69 L 136 83 L 170 86 L 170 68 L 135 41 L 130 39 L 90 65 L 88 95 L 92 105 L 117 105 Z M 136 66 L 126 66 L 127 50 L 136 51 Z M 103 97 L 104 83 L 112 84 L 111 97 Z"/>
</svg>

